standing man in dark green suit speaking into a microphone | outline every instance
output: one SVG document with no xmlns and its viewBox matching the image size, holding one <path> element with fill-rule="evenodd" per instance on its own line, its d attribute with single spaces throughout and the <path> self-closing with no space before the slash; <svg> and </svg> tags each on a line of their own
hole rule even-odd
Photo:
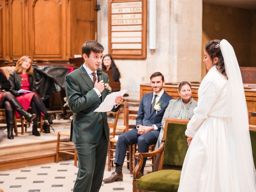
<svg viewBox="0 0 256 192">
<path fill-rule="evenodd" d="M 109 130 L 106 112 L 94 112 L 110 92 L 104 87 L 108 75 L 102 72 L 98 82 L 104 48 L 95 41 L 82 46 L 84 64 L 65 78 L 68 105 L 73 112 L 70 140 L 75 143 L 79 169 L 74 192 L 98 192 L 106 164 Z M 112 111 L 117 111 L 123 96 L 115 99 Z"/>
</svg>

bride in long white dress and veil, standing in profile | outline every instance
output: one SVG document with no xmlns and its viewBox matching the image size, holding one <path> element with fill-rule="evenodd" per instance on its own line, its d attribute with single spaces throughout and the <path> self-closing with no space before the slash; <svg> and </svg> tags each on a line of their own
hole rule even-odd
<svg viewBox="0 0 256 192">
<path fill-rule="evenodd" d="M 178 192 L 256 192 L 248 112 L 234 49 L 226 40 L 210 41 L 204 62 L 209 71 L 185 132 L 189 148 Z"/>
</svg>

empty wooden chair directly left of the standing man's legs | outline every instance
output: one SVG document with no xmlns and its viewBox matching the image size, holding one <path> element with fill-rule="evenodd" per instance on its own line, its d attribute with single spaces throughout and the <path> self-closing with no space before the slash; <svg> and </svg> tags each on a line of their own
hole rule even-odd
<svg viewBox="0 0 256 192">
<path fill-rule="evenodd" d="M 60 139 L 60 136 L 65 136 L 64 139 Z M 60 148 L 60 144 L 64 147 Z M 58 132 L 57 147 L 56 147 L 56 163 L 59 161 L 59 153 L 74 155 L 74 166 L 77 165 L 77 153 L 74 143 L 70 142 L 70 132 Z"/>
</svg>

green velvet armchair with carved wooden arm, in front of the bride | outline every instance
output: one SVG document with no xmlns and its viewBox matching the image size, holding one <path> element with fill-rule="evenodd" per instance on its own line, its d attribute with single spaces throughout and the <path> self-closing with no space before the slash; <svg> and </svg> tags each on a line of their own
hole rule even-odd
<svg viewBox="0 0 256 192">
<path fill-rule="evenodd" d="M 166 119 L 160 148 L 153 152 L 136 153 L 138 163 L 133 171 L 133 192 L 176 192 L 188 150 L 185 130 L 188 120 Z M 160 154 L 159 171 L 141 175 L 143 158 Z"/>
</svg>

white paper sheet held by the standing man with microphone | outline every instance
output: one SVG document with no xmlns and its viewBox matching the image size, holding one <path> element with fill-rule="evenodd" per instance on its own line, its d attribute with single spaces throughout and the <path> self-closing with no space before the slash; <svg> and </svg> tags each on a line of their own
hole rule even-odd
<svg viewBox="0 0 256 192">
<path fill-rule="evenodd" d="M 115 103 L 116 97 L 123 96 L 126 92 L 127 92 L 127 89 L 124 89 L 122 91 L 113 92 L 113 93 L 107 95 L 106 98 L 104 99 L 104 101 L 100 104 L 100 106 L 98 108 L 96 108 L 96 110 L 94 110 L 94 112 L 111 111 L 112 108 L 114 107 L 114 105 L 116 104 Z"/>
</svg>

